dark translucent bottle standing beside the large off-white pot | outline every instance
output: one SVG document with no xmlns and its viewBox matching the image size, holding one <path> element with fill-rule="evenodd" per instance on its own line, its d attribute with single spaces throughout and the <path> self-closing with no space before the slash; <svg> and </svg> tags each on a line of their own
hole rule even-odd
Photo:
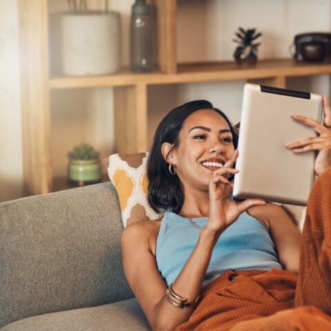
<svg viewBox="0 0 331 331">
<path fill-rule="evenodd" d="M 130 21 L 130 68 L 132 72 L 153 70 L 152 8 L 146 0 L 132 5 Z"/>
</svg>

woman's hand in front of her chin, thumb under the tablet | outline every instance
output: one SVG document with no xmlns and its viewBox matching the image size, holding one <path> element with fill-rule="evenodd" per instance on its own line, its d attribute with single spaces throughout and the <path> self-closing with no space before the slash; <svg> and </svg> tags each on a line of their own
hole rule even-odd
<svg viewBox="0 0 331 331">
<path fill-rule="evenodd" d="M 228 178 L 239 172 L 239 170 L 232 168 L 238 155 L 238 150 L 235 150 L 231 159 L 223 165 L 223 168 L 215 170 L 213 177 L 210 179 L 210 210 L 205 227 L 215 232 L 225 230 L 238 219 L 241 212 L 253 205 L 265 205 L 265 201 L 261 199 L 247 199 L 238 203 L 230 198 L 233 183 L 228 181 Z"/>
</svg>

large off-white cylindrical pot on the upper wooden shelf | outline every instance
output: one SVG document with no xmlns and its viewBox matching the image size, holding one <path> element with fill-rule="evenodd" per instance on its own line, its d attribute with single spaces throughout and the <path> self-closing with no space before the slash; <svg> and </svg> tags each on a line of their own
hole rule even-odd
<svg viewBox="0 0 331 331">
<path fill-rule="evenodd" d="M 61 13 L 57 15 L 57 29 L 61 74 L 86 76 L 120 70 L 119 12 Z"/>
</svg>

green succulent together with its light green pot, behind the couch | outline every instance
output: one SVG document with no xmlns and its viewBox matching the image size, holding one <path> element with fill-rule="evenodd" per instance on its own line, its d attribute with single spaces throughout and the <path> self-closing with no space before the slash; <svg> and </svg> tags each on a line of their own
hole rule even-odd
<svg viewBox="0 0 331 331">
<path fill-rule="evenodd" d="M 79 186 L 101 182 L 99 152 L 88 143 L 81 143 L 68 152 L 68 180 Z"/>
</svg>

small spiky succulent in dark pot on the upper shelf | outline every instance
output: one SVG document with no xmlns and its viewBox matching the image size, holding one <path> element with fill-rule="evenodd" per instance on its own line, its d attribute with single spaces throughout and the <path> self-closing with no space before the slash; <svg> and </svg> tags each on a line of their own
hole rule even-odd
<svg viewBox="0 0 331 331">
<path fill-rule="evenodd" d="M 237 39 L 233 39 L 235 43 L 239 43 L 234 51 L 234 60 L 238 64 L 248 64 L 250 66 L 257 62 L 257 48 L 260 43 L 256 43 L 256 40 L 261 37 L 261 32 L 256 32 L 256 29 L 243 29 L 239 28 L 238 32 L 235 32 Z"/>
</svg>

